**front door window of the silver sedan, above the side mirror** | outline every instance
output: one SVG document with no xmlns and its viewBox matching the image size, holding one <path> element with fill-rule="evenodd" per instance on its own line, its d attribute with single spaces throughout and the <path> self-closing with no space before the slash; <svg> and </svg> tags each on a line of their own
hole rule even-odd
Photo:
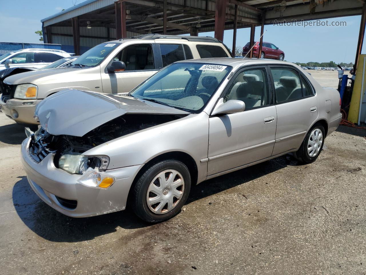
<svg viewBox="0 0 366 275">
<path fill-rule="evenodd" d="M 230 87 L 224 102 L 230 99 L 241 100 L 245 103 L 246 110 L 270 104 L 265 68 L 244 70 L 236 76 Z"/>
</svg>

